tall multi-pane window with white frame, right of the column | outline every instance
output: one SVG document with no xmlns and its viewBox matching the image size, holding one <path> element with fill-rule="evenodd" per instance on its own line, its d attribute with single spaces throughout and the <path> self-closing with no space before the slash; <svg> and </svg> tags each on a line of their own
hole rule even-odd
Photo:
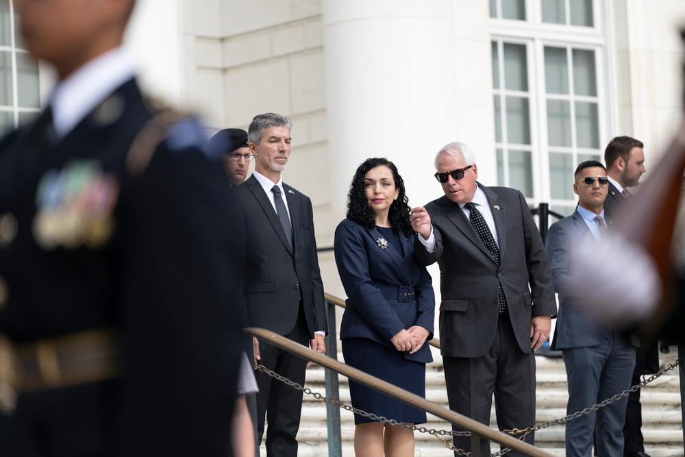
<svg viewBox="0 0 685 457">
<path fill-rule="evenodd" d="M 499 184 L 571 214 L 606 131 L 601 0 L 490 0 Z"/>
</svg>

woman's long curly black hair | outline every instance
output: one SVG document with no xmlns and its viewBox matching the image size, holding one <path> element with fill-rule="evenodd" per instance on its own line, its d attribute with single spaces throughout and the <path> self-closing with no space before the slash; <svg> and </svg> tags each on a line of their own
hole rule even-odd
<svg viewBox="0 0 685 457">
<path fill-rule="evenodd" d="M 395 188 L 399 189 L 397 199 L 390 205 L 388 212 L 388 220 L 390 227 L 395 230 L 401 230 L 404 236 L 410 236 L 414 231 L 412 230 L 412 223 L 409 221 L 411 209 L 409 208 L 409 198 L 404 191 L 404 181 L 397 173 L 397 166 L 386 158 L 371 158 L 366 159 L 354 173 L 352 182 L 349 185 L 349 193 L 347 194 L 347 218 L 364 225 L 366 228 L 373 228 L 376 225 L 375 214 L 369 208 L 369 199 L 366 198 L 366 188 L 364 187 L 364 176 L 366 172 L 377 167 L 387 166 L 393 172 L 393 179 L 395 180 Z"/>
</svg>

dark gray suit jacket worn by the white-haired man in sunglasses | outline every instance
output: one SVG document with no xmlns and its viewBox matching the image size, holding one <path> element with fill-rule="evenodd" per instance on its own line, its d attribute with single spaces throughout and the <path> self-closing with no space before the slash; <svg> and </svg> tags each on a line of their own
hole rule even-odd
<svg viewBox="0 0 685 457">
<path fill-rule="evenodd" d="M 518 190 L 478 185 L 493 208 L 499 267 L 459 205 L 445 196 L 425 206 L 436 251 L 427 252 L 418 240 L 414 243 L 419 263 L 440 264 L 440 351 L 443 356 L 479 357 L 490 349 L 501 283 L 516 343 L 529 354 L 532 317 L 556 314 L 543 240 Z"/>
</svg>

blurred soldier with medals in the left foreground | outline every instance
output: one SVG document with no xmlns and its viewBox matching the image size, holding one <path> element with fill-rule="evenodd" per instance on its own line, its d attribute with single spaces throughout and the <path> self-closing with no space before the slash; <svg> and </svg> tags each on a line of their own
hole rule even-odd
<svg viewBox="0 0 685 457">
<path fill-rule="evenodd" d="M 0 454 L 225 455 L 242 237 L 221 161 L 145 106 L 134 0 L 14 3 L 59 82 L 0 142 Z"/>
</svg>

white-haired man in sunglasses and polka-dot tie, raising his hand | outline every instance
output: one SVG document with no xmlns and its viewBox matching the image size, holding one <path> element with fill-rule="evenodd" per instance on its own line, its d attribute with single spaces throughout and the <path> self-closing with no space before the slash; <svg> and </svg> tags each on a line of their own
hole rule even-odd
<svg viewBox="0 0 685 457">
<path fill-rule="evenodd" d="M 435 167 L 445 195 L 414 208 L 412 226 L 421 234 L 416 258 L 440 264 L 440 351 L 449 407 L 489 424 L 495 393 L 500 430 L 530 427 L 533 351 L 547 341 L 556 314 L 540 232 L 518 190 L 476 181 L 470 147 L 446 145 Z M 533 434 L 525 441 L 533 444 Z M 471 450 L 469 437 L 455 436 L 454 443 Z"/>
</svg>

